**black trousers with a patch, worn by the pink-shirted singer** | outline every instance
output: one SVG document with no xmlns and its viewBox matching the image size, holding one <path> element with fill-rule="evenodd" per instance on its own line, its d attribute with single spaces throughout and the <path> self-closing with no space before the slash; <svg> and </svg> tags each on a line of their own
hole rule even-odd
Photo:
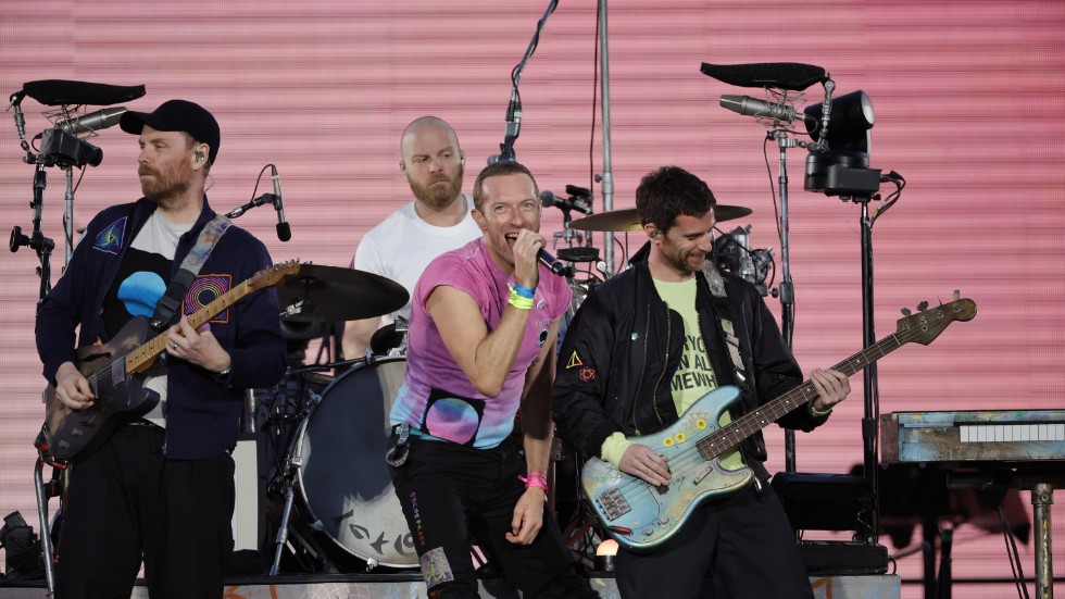
<svg viewBox="0 0 1065 599">
<path fill-rule="evenodd" d="M 513 440 L 494 449 L 414 440 L 401 467 L 390 467 L 396 495 L 414 537 L 430 597 L 478 597 L 474 541 L 526 599 L 598 597 L 577 575 L 554 519 L 547 512 L 531 545 L 514 545 L 514 506 L 525 461 Z"/>
</svg>

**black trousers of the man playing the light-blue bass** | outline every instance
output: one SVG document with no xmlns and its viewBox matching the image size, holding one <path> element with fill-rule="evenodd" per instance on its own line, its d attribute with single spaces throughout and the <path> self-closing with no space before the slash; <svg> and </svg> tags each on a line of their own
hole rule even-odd
<svg viewBox="0 0 1065 599">
<path fill-rule="evenodd" d="M 701 504 L 661 547 L 623 549 L 614 563 L 623 599 L 814 597 L 788 516 L 767 484 L 761 494 L 749 485 Z"/>
</svg>

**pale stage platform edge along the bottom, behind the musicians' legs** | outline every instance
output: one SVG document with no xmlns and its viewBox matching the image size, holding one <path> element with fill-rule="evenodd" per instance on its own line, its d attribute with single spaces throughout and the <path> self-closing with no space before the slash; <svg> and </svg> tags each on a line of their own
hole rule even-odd
<svg viewBox="0 0 1065 599">
<path fill-rule="evenodd" d="M 227 584 L 223 599 L 426 599 L 425 585 L 416 573 L 275 576 L 234 578 Z M 603 599 L 617 597 L 611 575 L 591 577 L 592 588 Z M 23 583 L 26 584 L 26 583 Z M 902 582 L 894 575 L 817 576 L 811 577 L 816 599 L 899 599 Z M 0 583 L 2 585 L 2 583 Z M 517 599 L 519 595 L 505 581 L 481 581 L 481 597 Z M 28 587 L 0 586 L 0 599 L 43 599 L 43 583 Z M 133 599 L 148 599 L 148 589 L 138 586 Z"/>
</svg>

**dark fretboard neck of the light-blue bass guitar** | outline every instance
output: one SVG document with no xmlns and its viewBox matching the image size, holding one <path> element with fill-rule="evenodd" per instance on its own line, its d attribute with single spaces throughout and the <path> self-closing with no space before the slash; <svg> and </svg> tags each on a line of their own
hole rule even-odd
<svg viewBox="0 0 1065 599">
<path fill-rule="evenodd" d="M 889 335 L 839 364 L 836 364 L 832 366 L 832 370 L 850 376 L 899 349 L 902 345 L 898 334 Z M 698 444 L 699 450 L 704 454 L 710 453 L 710 458 L 716 458 L 815 397 L 817 397 L 817 389 L 814 388 L 813 383 L 806 380 L 769 403 L 740 416 L 728 426 L 702 439 Z"/>
</svg>

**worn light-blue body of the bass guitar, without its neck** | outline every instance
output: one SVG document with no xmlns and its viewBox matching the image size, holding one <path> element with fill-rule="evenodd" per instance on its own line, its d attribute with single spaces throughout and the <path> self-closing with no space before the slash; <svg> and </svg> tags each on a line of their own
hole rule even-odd
<svg viewBox="0 0 1065 599">
<path fill-rule="evenodd" d="M 653 487 L 598 458 L 585 463 L 581 488 L 621 545 L 636 551 L 653 549 L 673 536 L 701 502 L 754 481 L 750 469 L 725 470 L 721 458 L 707 460 L 696 447 L 719 428 L 722 414 L 739 398 L 739 388 L 721 387 L 696 401 L 662 432 L 629 439 L 666 457 L 672 473 L 668 486 Z"/>
</svg>

